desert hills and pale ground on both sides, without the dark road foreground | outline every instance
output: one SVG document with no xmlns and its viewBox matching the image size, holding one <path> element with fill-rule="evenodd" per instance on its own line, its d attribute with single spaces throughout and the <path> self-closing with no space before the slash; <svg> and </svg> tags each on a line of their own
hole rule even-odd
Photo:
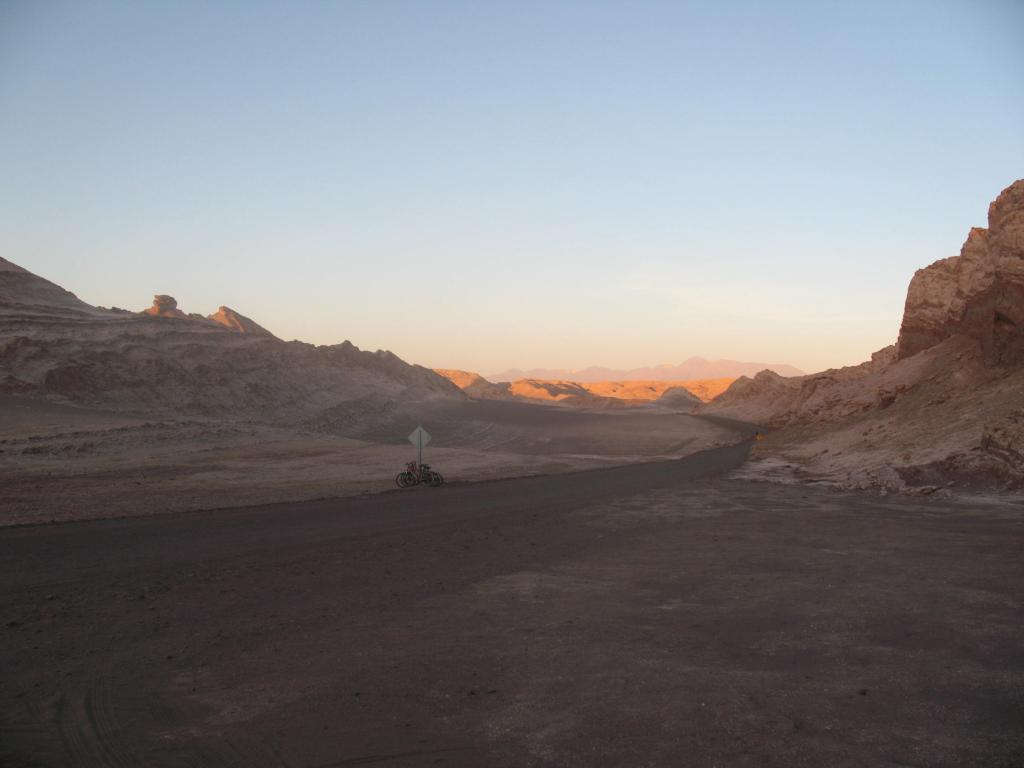
<svg viewBox="0 0 1024 768">
<path fill-rule="evenodd" d="M 418 424 L 437 435 L 435 463 L 467 481 L 735 441 L 708 418 L 718 417 L 766 431 L 744 476 L 882 493 L 1019 489 L 1022 219 L 1017 182 L 959 256 L 913 276 L 896 343 L 808 375 L 695 358 L 633 373 L 640 380 L 595 369 L 580 381 L 537 378 L 573 375 L 559 371 L 492 381 L 348 341 L 285 342 L 224 306 L 185 314 L 157 296 L 138 312 L 94 307 L 2 261 L 4 521 L 379 492 Z M 710 375 L 649 378 L 686 373 Z M 609 374 L 625 376 L 599 379 Z"/>
</svg>

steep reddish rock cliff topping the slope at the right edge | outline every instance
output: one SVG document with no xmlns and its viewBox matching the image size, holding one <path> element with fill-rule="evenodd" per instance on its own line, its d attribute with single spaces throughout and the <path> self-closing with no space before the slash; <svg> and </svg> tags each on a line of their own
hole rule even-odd
<svg viewBox="0 0 1024 768">
<path fill-rule="evenodd" d="M 959 256 L 919 269 L 910 281 L 898 356 L 957 334 L 978 341 L 987 365 L 1024 362 L 1024 180 L 989 206 L 988 228 L 971 229 Z"/>
</svg>

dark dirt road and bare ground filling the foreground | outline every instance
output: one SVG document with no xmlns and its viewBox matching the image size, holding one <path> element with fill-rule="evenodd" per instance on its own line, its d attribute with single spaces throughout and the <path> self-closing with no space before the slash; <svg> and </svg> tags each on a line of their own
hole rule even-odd
<svg viewBox="0 0 1024 768">
<path fill-rule="evenodd" d="M 746 447 L 2 529 L 0 764 L 1024 764 L 1024 510 Z"/>
</svg>

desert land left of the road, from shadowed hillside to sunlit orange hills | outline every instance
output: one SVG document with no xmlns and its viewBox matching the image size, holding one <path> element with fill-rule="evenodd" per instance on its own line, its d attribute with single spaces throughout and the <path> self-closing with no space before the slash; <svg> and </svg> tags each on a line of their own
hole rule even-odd
<svg viewBox="0 0 1024 768">
<path fill-rule="evenodd" d="M 347 341 L 284 342 L 228 307 L 89 306 L 8 261 L 0 292 L 7 524 L 393 488 L 421 423 L 436 435 L 430 458 L 458 480 L 734 440 L 690 415 L 729 378 L 496 385 Z"/>
</svg>

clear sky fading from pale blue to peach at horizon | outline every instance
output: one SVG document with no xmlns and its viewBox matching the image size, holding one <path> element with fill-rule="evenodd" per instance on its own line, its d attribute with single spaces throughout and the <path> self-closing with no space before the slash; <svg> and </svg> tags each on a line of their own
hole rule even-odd
<svg viewBox="0 0 1024 768">
<path fill-rule="evenodd" d="M 856 364 L 1024 176 L 1024 2 L 0 0 L 0 255 L 438 368 Z"/>
</svg>

